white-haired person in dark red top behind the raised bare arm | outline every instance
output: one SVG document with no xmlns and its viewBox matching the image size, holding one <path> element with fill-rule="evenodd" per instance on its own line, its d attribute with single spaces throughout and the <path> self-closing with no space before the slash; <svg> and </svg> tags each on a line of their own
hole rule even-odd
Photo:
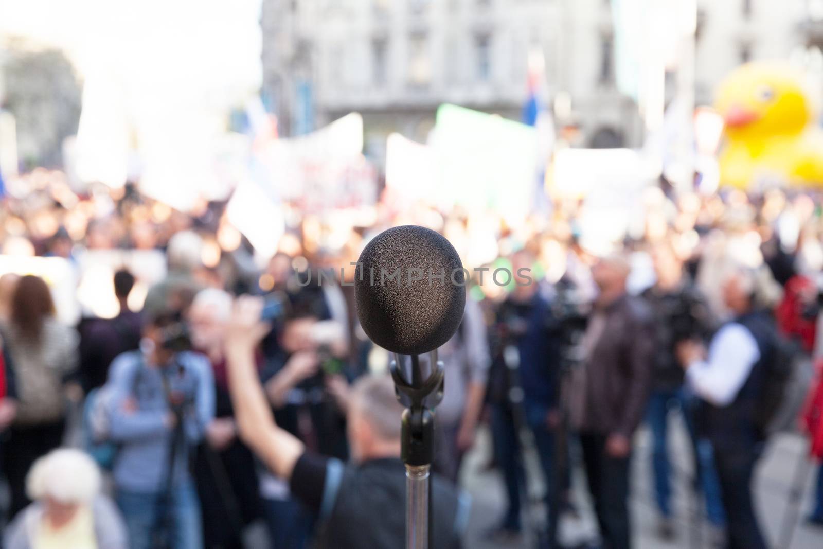
<svg viewBox="0 0 823 549">
<path fill-rule="evenodd" d="M 237 435 L 226 372 L 226 325 L 231 295 L 208 288 L 190 309 L 192 346 L 212 363 L 215 419 L 195 456 L 194 474 L 202 507 L 207 549 L 242 549 L 244 527 L 262 516 L 258 475 L 249 448 Z"/>
</svg>

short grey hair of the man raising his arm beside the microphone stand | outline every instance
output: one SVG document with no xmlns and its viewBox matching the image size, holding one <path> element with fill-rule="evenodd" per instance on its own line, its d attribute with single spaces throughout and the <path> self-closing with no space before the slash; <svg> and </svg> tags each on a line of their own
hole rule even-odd
<svg viewBox="0 0 823 549">
<path fill-rule="evenodd" d="M 403 407 L 388 375 L 365 375 L 351 389 L 351 402 L 385 441 L 400 440 Z"/>
</svg>

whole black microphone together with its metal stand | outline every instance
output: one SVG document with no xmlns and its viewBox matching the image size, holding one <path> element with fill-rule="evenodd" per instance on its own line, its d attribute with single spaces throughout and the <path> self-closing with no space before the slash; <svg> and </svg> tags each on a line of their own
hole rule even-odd
<svg viewBox="0 0 823 549">
<path fill-rule="evenodd" d="M 357 318 L 370 339 L 395 354 L 391 371 L 402 415 L 406 464 L 406 547 L 430 546 L 429 472 L 435 454 L 435 410 L 443 398 L 437 348 L 457 332 L 466 306 L 466 271 L 449 240 L 421 226 L 384 230 L 366 245 L 355 277 Z M 430 353 L 424 379 L 418 355 Z M 411 379 L 401 355 L 411 359 Z"/>
</svg>

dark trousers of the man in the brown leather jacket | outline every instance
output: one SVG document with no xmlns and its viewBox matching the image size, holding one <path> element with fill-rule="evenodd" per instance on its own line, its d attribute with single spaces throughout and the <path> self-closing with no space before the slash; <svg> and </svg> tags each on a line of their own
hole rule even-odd
<svg viewBox="0 0 823 549">
<path fill-rule="evenodd" d="M 630 457 L 612 458 L 606 452 L 607 435 L 582 433 L 580 449 L 592 494 L 594 513 L 604 549 L 629 549 L 629 464 Z"/>
</svg>

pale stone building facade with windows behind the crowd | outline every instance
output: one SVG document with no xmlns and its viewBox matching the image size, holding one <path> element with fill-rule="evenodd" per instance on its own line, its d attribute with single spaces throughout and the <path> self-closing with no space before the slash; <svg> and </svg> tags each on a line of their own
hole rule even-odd
<svg viewBox="0 0 823 549">
<path fill-rule="evenodd" d="M 263 87 L 281 135 L 358 111 L 365 152 L 380 161 L 388 133 L 425 141 L 442 103 L 520 119 L 538 53 L 542 99 L 560 127 L 574 128 L 574 145 L 638 147 L 636 98 L 616 86 L 615 14 L 616 4 L 645 1 L 263 0 Z M 740 63 L 823 42 L 821 0 L 696 5 L 698 105 Z"/>
</svg>

